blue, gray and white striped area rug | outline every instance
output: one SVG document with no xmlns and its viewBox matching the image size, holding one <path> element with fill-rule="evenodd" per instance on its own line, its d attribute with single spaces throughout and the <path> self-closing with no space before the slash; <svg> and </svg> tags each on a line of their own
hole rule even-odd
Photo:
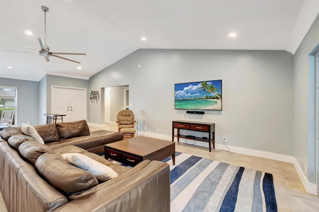
<svg viewBox="0 0 319 212">
<path fill-rule="evenodd" d="M 171 212 L 277 212 L 273 175 L 176 152 Z"/>
</svg>

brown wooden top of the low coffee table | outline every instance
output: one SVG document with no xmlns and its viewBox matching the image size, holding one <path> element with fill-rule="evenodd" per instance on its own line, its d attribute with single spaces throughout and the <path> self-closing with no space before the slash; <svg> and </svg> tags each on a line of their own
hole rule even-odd
<svg viewBox="0 0 319 212">
<path fill-rule="evenodd" d="M 171 141 L 163 141 L 159 139 L 138 136 L 133 139 L 116 141 L 105 145 L 110 148 L 114 148 L 128 153 L 133 153 L 144 157 L 166 146 L 175 145 L 175 143 Z"/>
</svg>

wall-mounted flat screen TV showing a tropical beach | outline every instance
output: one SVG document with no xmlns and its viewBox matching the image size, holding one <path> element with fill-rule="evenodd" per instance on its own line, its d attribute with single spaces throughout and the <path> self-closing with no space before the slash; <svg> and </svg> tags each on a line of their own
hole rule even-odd
<svg viewBox="0 0 319 212">
<path fill-rule="evenodd" d="M 175 84 L 175 109 L 222 110 L 221 81 Z"/>
</svg>

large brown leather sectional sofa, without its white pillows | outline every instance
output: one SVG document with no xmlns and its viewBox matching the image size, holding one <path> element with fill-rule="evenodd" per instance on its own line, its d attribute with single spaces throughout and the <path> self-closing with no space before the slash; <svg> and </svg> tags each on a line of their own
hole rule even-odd
<svg viewBox="0 0 319 212">
<path fill-rule="evenodd" d="M 115 165 L 92 152 L 100 152 L 118 133 L 86 135 L 83 121 L 63 124 L 55 126 L 60 141 L 54 125 L 35 127 L 45 144 L 23 135 L 19 128 L 1 131 L 0 191 L 8 212 L 169 212 L 166 163 L 146 160 L 134 168 Z M 64 160 L 63 153 L 86 155 L 118 176 L 98 181 Z"/>
</svg>

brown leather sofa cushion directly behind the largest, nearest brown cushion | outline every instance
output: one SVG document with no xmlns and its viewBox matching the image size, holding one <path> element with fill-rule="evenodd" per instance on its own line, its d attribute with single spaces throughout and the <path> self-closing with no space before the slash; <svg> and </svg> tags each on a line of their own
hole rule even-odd
<svg viewBox="0 0 319 212">
<path fill-rule="evenodd" d="M 32 163 L 32 165 L 35 164 L 36 159 L 38 159 L 38 157 L 43 153 L 53 152 L 49 146 L 37 141 L 24 141 L 21 143 L 18 150 L 22 157 L 27 159 L 30 163 Z"/>
</svg>

